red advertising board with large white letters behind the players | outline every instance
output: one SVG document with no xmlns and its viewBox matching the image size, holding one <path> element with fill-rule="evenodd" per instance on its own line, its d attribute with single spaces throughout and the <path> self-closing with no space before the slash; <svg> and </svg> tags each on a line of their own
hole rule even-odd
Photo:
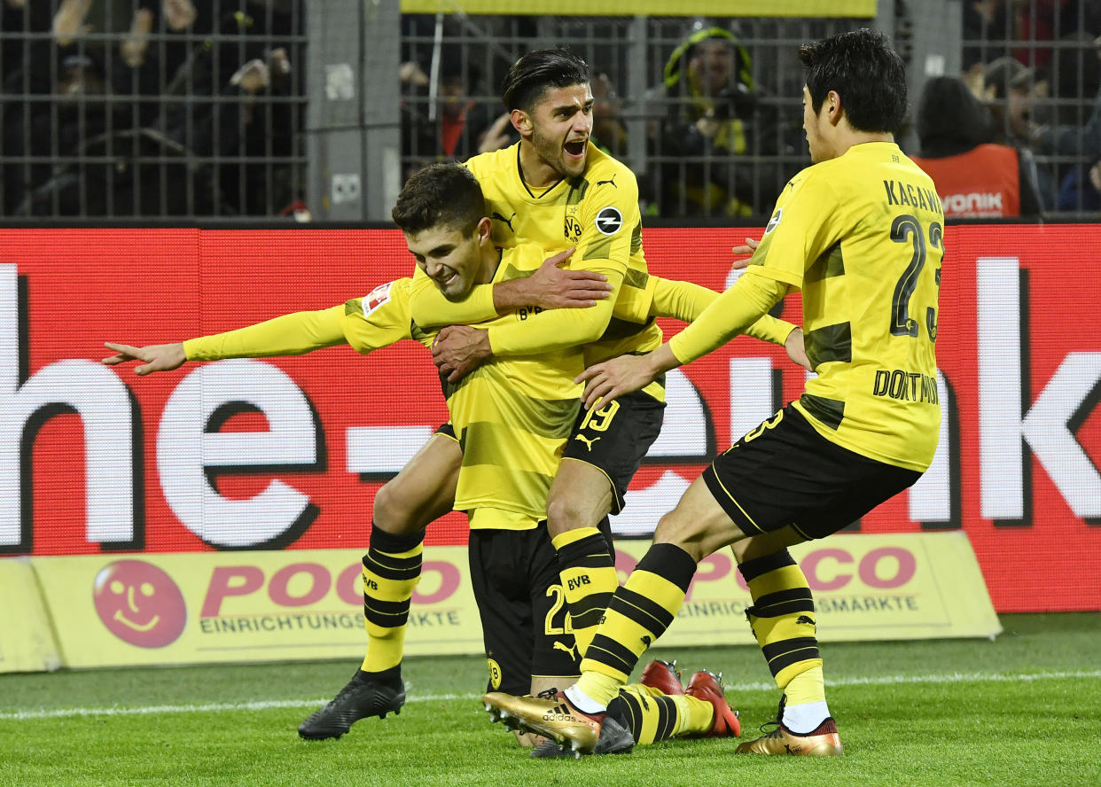
<svg viewBox="0 0 1101 787">
<path fill-rule="evenodd" d="M 644 242 L 653 272 L 722 288 L 746 234 L 760 230 Z M 359 548 L 374 493 L 446 418 L 412 342 L 146 378 L 99 363 L 103 341 L 177 341 L 364 295 L 412 270 L 396 230 L 0 238 L 2 554 Z M 1101 226 L 950 227 L 946 248 L 941 447 L 853 529 L 963 528 L 996 610 L 1101 609 Z M 784 308 L 798 321 L 797 297 Z M 673 375 L 618 532 L 646 535 L 709 455 L 803 381 L 782 349 L 744 338 Z M 453 514 L 428 543 L 465 537 Z"/>
</svg>

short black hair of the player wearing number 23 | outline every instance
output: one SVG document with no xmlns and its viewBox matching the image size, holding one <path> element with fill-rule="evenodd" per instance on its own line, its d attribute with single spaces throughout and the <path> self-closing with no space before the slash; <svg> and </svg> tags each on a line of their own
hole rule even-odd
<svg viewBox="0 0 1101 787">
<path fill-rule="evenodd" d="M 836 90 L 853 129 L 895 133 L 902 127 L 906 68 L 883 33 L 863 28 L 804 44 L 799 62 L 815 113 Z"/>
</svg>

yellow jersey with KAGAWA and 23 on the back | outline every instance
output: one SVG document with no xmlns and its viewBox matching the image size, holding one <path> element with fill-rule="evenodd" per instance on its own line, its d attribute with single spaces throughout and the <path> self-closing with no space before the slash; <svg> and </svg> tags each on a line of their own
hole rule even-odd
<svg viewBox="0 0 1101 787">
<path fill-rule="evenodd" d="M 933 181 L 896 144 L 853 145 L 792 178 L 750 269 L 803 291 L 818 376 L 795 406 L 828 440 L 919 471 L 940 424 L 944 221 Z"/>
</svg>

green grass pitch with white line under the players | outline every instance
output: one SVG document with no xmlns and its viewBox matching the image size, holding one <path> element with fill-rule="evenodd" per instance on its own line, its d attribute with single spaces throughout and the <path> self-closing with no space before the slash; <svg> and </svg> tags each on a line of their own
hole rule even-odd
<svg viewBox="0 0 1101 787">
<path fill-rule="evenodd" d="M 847 756 L 733 756 L 734 740 L 535 761 L 490 724 L 484 662 L 416 658 L 401 715 L 339 741 L 296 726 L 357 664 L 0 676 L 0 785 L 1101 785 L 1101 614 L 1004 615 L 996 641 L 826 644 Z M 743 735 L 778 699 L 751 647 L 663 649 L 722 670 Z"/>
</svg>

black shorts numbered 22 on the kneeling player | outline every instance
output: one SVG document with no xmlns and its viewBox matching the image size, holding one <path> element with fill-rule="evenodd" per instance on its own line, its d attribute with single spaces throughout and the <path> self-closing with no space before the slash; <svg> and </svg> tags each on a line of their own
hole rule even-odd
<svg viewBox="0 0 1101 787">
<path fill-rule="evenodd" d="M 468 554 L 489 690 L 526 695 L 533 676 L 580 675 L 546 525 L 531 531 L 472 529 Z"/>
</svg>

